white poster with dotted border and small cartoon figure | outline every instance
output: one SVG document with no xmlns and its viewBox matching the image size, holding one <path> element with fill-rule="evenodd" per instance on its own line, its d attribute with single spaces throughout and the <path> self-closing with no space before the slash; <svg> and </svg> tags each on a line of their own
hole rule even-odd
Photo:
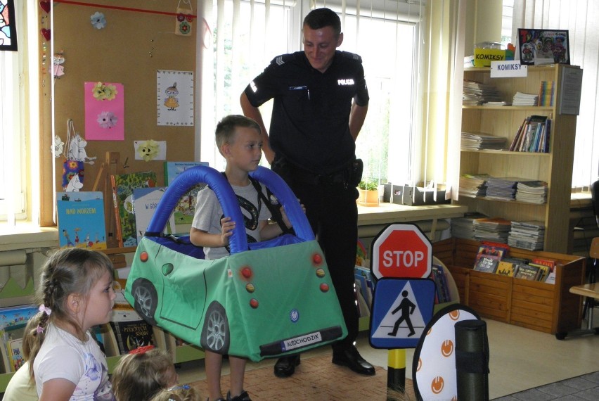
<svg viewBox="0 0 599 401">
<path fill-rule="evenodd" d="M 193 127 L 193 72 L 156 71 L 157 125 Z"/>
</svg>

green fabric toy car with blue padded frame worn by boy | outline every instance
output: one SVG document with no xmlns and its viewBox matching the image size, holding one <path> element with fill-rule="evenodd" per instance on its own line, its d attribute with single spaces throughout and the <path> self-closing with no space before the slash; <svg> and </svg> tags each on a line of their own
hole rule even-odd
<svg viewBox="0 0 599 401">
<path fill-rule="evenodd" d="M 254 361 L 344 338 L 326 260 L 301 205 L 276 173 L 258 167 L 251 174 L 278 198 L 295 235 L 248 246 L 231 186 L 212 167 L 193 167 L 168 187 L 137 246 L 127 301 L 148 322 L 188 343 Z M 236 222 L 228 257 L 205 260 L 188 236 L 163 234 L 177 200 L 198 182 L 210 186 L 224 215 Z"/>
</svg>

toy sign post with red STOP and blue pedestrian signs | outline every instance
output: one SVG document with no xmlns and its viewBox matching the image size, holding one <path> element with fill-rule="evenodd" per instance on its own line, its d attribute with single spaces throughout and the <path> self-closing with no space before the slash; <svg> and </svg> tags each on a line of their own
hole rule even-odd
<svg viewBox="0 0 599 401">
<path fill-rule="evenodd" d="M 416 330 L 413 327 L 410 317 L 413 316 L 418 308 L 416 317 L 420 317 L 423 324 L 424 320 L 432 318 L 432 304 L 434 302 L 434 283 L 432 286 L 418 286 L 417 280 L 422 280 L 430 276 L 432 271 L 432 245 L 425 234 L 414 224 L 389 224 L 378 236 L 375 237 L 371 250 L 371 272 L 379 283 L 375 286 L 373 294 L 373 312 L 371 314 L 371 345 L 385 345 L 382 348 L 389 349 L 388 369 L 387 369 L 387 388 L 404 391 L 406 386 L 406 350 L 405 348 L 415 347 L 418 343 L 418 337 L 414 336 Z M 385 279 L 384 281 L 381 279 Z M 395 280 L 397 279 L 397 280 Z M 410 280 L 415 279 L 413 283 Z M 397 283 L 395 282 L 397 281 Z M 379 284 L 385 284 L 380 286 Z M 399 288 L 401 286 L 401 288 Z M 418 288 L 418 291 L 408 291 L 406 288 Z M 432 293 L 430 289 L 432 288 Z M 396 294 L 399 292 L 399 294 Z M 389 308 L 389 294 L 397 300 Z M 418 297 L 416 296 L 418 293 Z M 429 294 L 430 293 L 430 294 Z M 402 309 L 399 302 L 401 298 L 410 302 L 406 308 Z M 387 299 L 385 299 L 387 298 Z M 410 298 L 410 299 L 408 299 Z M 418 301 L 420 298 L 423 301 Z M 399 303 L 399 305 L 398 305 Z M 429 307 L 430 303 L 430 307 Z M 382 304 L 382 312 L 378 310 L 378 305 Z M 426 304 L 426 305 L 423 305 Z M 397 305 L 397 306 L 396 306 Z M 419 305 L 422 305 L 420 307 Z M 426 311 L 426 309 L 430 309 Z M 387 310 L 389 309 L 389 310 Z M 387 328 L 389 315 L 401 310 L 401 322 L 407 321 L 409 332 L 399 333 L 399 320 L 396 327 L 389 330 Z M 379 315 L 381 316 L 379 317 Z M 430 316 L 428 316 L 430 314 Z M 373 327 L 373 325 L 375 327 Z M 405 331 L 405 330 L 404 330 Z M 373 336 L 377 336 L 376 338 Z M 415 337 L 407 339 L 407 337 Z M 416 340 L 414 345 L 413 341 Z"/>
</svg>

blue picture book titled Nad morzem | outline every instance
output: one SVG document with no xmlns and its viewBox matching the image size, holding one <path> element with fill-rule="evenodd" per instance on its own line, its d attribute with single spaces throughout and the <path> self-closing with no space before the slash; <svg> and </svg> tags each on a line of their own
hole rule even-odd
<svg viewBox="0 0 599 401">
<path fill-rule="evenodd" d="M 102 192 L 57 192 L 56 214 L 60 248 L 106 249 Z"/>
</svg>

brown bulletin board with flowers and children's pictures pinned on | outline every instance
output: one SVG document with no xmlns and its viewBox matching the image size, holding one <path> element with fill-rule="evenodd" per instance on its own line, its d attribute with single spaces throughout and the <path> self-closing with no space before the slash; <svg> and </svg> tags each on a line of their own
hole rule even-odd
<svg viewBox="0 0 599 401">
<path fill-rule="evenodd" d="M 118 174 L 153 171 L 163 185 L 164 159 L 193 160 L 194 126 L 199 123 L 193 120 L 198 23 L 195 12 L 188 13 L 182 19 L 191 32 L 176 34 L 181 6 L 186 5 L 179 0 L 52 2 L 53 53 L 63 57 L 63 63 L 53 64 L 49 55 L 47 71 L 54 85 L 55 134 L 65 143 L 65 155 L 72 134 L 79 133 L 87 143 L 80 191 L 91 191 L 107 167 Z M 104 103 L 110 107 L 91 106 L 94 96 L 110 97 L 115 90 L 113 100 Z M 176 101 L 168 100 L 172 95 Z M 166 111 L 161 112 L 159 101 Z M 136 146 L 146 141 L 160 144 L 164 154 L 142 158 Z M 103 165 L 109 155 L 114 165 Z M 56 158 L 56 191 L 63 191 L 65 159 Z"/>
</svg>

